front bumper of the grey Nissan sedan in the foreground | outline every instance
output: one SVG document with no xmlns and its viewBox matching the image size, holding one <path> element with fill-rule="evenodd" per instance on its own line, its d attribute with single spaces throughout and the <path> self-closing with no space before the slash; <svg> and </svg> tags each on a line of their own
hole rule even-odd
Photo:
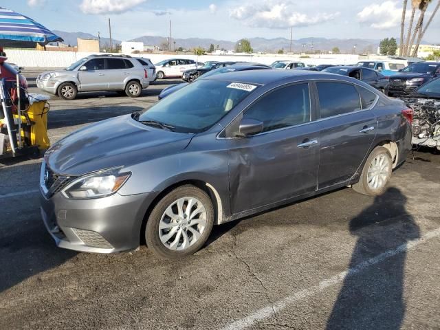
<svg viewBox="0 0 440 330">
<path fill-rule="evenodd" d="M 41 217 L 58 247 L 112 253 L 139 246 L 142 222 L 153 193 L 68 199 L 61 192 L 47 197 L 43 185 L 40 184 Z"/>
</svg>

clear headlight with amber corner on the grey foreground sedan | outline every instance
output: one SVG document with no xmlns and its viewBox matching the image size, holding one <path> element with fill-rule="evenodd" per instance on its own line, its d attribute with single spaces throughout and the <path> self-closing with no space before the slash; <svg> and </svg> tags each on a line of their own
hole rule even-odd
<svg viewBox="0 0 440 330">
<path fill-rule="evenodd" d="M 63 189 L 63 195 L 72 199 L 93 199 L 113 195 L 121 188 L 131 173 L 105 171 L 78 177 Z"/>
</svg>

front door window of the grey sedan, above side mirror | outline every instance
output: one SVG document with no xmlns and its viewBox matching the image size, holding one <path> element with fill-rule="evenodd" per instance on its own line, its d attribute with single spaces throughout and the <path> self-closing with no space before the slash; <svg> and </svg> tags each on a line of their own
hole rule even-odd
<svg viewBox="0 0 440 330">
<path fill-rule="evenodd" d="M 243 118 L 263 122 L 263 132 L 309 122 L 309 85 L 306 83 L 277 89 L 256 101 Z"/>
</svg>

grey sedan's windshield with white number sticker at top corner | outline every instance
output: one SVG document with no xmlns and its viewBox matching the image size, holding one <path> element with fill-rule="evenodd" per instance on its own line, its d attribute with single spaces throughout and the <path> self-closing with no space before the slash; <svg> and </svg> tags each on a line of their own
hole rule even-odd
<svg viewBox="0 0 440 330">
<path fill-rule="evenodd" d="M 140 122 L 153 120 L 181 133 L 204 131 L 234 109 L 255 85 L 217 80 L 197 80 L 144 111 Z"/>
</svg>

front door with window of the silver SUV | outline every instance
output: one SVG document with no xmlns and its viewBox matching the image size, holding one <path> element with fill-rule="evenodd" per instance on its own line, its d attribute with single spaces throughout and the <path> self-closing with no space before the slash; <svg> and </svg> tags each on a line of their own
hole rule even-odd
<svg viewBox="0 0 440 330">
<path fill-rule="evenodd" d="M 80 91 L 101 91 L 108 87 L 107 77 L 105 76 L 104 58 L 91 58 L 84 63 L 87 69 L 78 71 L 80 81 Z"/>
</svg>

